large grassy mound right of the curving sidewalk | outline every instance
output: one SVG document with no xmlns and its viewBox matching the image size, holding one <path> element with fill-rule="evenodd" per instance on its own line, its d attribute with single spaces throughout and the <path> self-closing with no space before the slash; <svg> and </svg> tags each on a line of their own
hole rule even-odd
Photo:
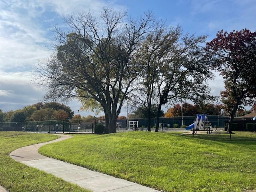
<svg viewBox="0 0 256 192">
<path fill-rule="evenodd" d="M 256 189 L 255 141 L 140 131 L 80 134 L 40 153 L 165 192 Z"/>
</svg>

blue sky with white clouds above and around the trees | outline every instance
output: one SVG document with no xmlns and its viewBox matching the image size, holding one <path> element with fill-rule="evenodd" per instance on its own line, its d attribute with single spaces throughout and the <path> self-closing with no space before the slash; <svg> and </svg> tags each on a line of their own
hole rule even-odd
<svg viewBox="0 0 256 192">
<path fill-rule="evenodd" d="M 256 30 L 255 0 L 0 0 L 0 109 L 4 112 L 41 102 L 44 90 L 31 83 L 33 65 L 51 54 L 51 28 L 62 17 L 81 11 L 97 13 L 103 5 L 127 9 L 132 17 L 146 11 L 184 33 L 215 38 L 219 30 Z M 224 90 L 216 76 L 208 82 L 214 96 Z M 67 104 L 77 113 L 80 104 Z M 83 112 L 81 115 L 94 115 Z M 120 114 L 126 116 L 126 110 Z"/>
</svg>

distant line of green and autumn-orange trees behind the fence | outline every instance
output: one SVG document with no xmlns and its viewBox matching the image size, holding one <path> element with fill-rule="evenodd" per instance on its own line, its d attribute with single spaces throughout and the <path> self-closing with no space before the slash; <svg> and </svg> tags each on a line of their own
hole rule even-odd
<svg viewBox="0 0 256 192">
<path fill-rule="evenodd" d="M 252 106 L 250 110 L 238 110 L 236 112 L 236 117 L 244 116 L 251 112 L 256 111 L 256 103 Z M 194 116 L 195 114 L 208 114 L 208 115 L 223 115 L 226 114 L 225 106 L 223 104 L 204 104 L 202 106 L 196 104 L 189 104 L 184 102 L 182 104 L 183 116 Z M 157 106 L 152 105 L 152 110 L 150 117 L 156 118 L 157 116 Z M 175 104 L 174 107 L 168 108 L 166 112 L 161 110 L 160 117 L 176 117 L 181 116 L 181 104 Z M 118 119 L 126 119 L 126 116 L 118 116 Z M 148 118 L 147 109 L 144 106 L 139 106 L 136 110 L 128 114 L 129 119 L 135 118 Z M 45 121 L 45 120 L 105 120 L 105 116 L 92 116 L 88 115 L 86 117 L 80 114 L 75 114 L 70 109 L 70 107 L 60 104 L 58 102 L 38 102 L 36 104 L 24 106 L 22 109 L 15 111 L 3 112 L 0 109 L 0 122 L 26 122 L 26 121 Z"/>
</svg>

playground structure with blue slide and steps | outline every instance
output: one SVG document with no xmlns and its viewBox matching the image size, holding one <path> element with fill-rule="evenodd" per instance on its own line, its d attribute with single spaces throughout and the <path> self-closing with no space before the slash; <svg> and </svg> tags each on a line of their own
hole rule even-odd
<svg viewBox="0 0 256 192">
<path fill-rule="evenodd" d="M 197 131 L 207 131 L 207 134 L 212 134 L 212 125 L 211 122 L 207 119 L 207 114 L 196 114 L 196 121 L 188 126 L 186 130 L 191 130 L 192 133 Z"/>
</svg>

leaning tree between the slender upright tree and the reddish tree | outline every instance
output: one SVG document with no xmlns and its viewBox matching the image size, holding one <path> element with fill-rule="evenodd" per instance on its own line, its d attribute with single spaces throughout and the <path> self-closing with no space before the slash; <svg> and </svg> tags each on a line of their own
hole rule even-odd
<svg viewBox="0 0 256 192">
<path fill-rule="evenodd" d="M 214 99 L 207 80 L 213 73 L 206 63 L 202 44 L 207 36 L 181 35 L 174 46 L 169 60 L 162 68 L 158 82 L 158 111 L 167 102 L 190 100 L 196 104 Z M 158 131 L 159 118 L 156 121 Z"/>
</svg>

